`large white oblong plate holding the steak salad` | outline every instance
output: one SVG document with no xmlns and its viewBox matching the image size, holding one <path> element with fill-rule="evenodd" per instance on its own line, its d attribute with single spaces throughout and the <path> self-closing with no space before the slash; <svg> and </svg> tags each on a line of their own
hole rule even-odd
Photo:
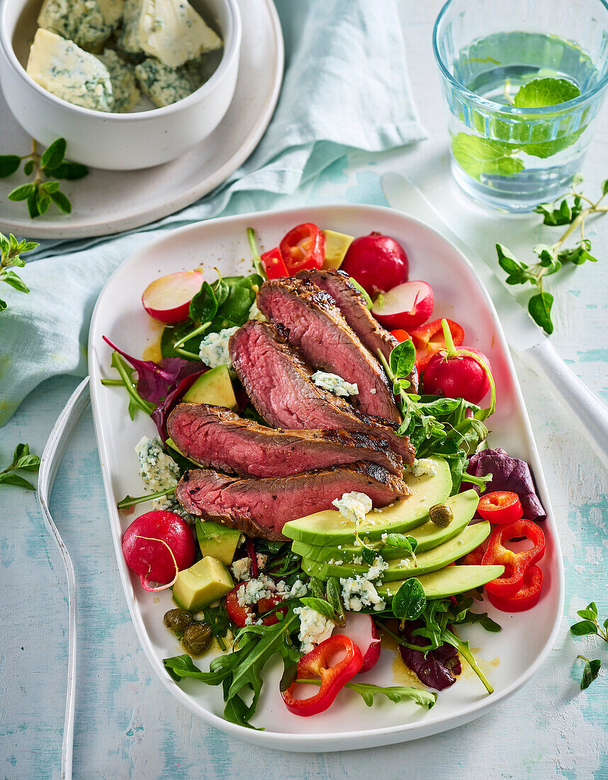
<svg viewBox="0 0 608 780">
<path fill-rule="evenodd" d="M 161 659 L 182 652 L 164 628 L 162 616 L 171 608 L 171 594 L 148 594 L 129 573 L 121 552 L 121 537 L 133 516 L 121 517 L 116 502 L 127 493 L 143 493 L 133 448 L 143 434 L 154 435 L 151 420 L 138 413 L 135 423 L 127 416 L 126 395 L 121 388 L 101 385 L 109 368 L 111 350 L 102 342 L 108 337 L 127 352 L 139 356 L 158 338 L 159 329 L 144 313 L 140 296 L 159 275 L 194 268 L 217 267 L 223 275 L 251 270 L 246 228 L 253 226 L 265 249 L 300 222 L 361 235 L 379 230 L 398 239 L 408 253 L 412 278 L 433 285 L 435 314 L 461 323 L 468 346 L 490 356 L 497 384 L 497 413 L 490 420 L 490 444 L 504 447 L 511 455 L 531 464 L 540 498 L 548 512 L 545 523 L 547 546 L 540 566 L 544 574 L 539 604 L 528 612 L 507 615 L 484 603 L 502 626 L 500 633 L 486 633 L 477 626 L 463 629 L 471 640 L 495 693 L 486 695 L 479 679 L 463 662 L 463 675 L 454 686 L 439 694 L 437 704 L 423 711 L 414 704 L 378 701 L 372 709 L 355 693 L 341 693 L 327 712 L 314 718 L 299 718 L 285 710 L 278 692 L 281 670 L 274 666 L 264 674 L 266 683 L 253 724 L 253 731 L 225 722 L 221 717 L 221 690 L 188 680 L 178 686 L 164 671 Z M 532 438 L 513 363 L 492 302 L 471 264 L 446 239 L 422 222 L 391 209 L 371 206 L 329 206 L 228 217 L 201 222 L 171 232 L 129 257 L 108 280 L 94 310 L 89 338 L 91 397 L 97 442 L 101 455 L 111 532 L 118 569 L 129 610 L 150 664 L 164 685 L 186 707 L 217 728 L 267 747 L 281 750 L 348 750 L 417 739 L 454 728 L 478 718 L 517 691 L 539 667 L 555 640 L 564 600 L 564 572 L 557 530 L 543 470 Z M 138 507 L 141 512 L 144 506 Z M 479 610 L 478 610 L 479 611 Z M 208 660 L 200 661 L 207 668 Z M 408 682 L 404 682 L 405 679 Z M 392 651 L 383 651 L 379 664 L 365 677 L 380 685 L 410 684 L 404 665 Z"/>
</svg>

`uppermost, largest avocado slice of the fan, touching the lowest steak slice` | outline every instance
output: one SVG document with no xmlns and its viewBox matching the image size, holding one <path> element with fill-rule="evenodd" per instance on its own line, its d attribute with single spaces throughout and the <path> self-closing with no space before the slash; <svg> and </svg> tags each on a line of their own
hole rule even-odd
<svg viewBox="0 0 608 780">
<path fill-rule="evenodd" d="M 422 525 L 435 504 L 443 504 L 452 491 L 450 466 L 440 458 L 430 458 L 437 468 L 434 477 L 423 474 L 414 477 L 405 474 L 404 480 L 412 495 L 394 502 L 384 509 L 369 512 L 359 525 L 359 536 L 377 541 L 382 534 L 405 534 Z M 355 539 L 355 523 L 341 516 L 335 509 L 326 509 L 313 515 L 290 520 L 283 526 L 282 534 L 294 541 L 316 544 L 320 547 L 352 544 Z"/>
</svg>

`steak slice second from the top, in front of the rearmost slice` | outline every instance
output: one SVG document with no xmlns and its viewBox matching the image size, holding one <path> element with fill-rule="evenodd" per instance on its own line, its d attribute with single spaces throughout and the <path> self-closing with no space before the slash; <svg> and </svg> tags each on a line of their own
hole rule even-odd
<svg viewBox="0 0 608 780">
<path fill-rule="evenodd" d="M 289 343 L 307 363 L 356 383 L 359 395 L 352 402 L 359 410 L 401 422 L 380 363 L 348 326 L 331 295 L 304 279 L 269 279 L 257 294 L 257 306 L 267 319 L 288 328 Z"/>
</svg>

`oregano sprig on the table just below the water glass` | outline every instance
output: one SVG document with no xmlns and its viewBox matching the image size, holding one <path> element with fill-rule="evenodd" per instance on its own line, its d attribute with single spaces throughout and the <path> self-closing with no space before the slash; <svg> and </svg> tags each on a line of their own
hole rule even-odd
<svg viewBox="0 0 608 780">
<path fill-rule="evenodd" d="M 528 300 L 528 312 L 532 319 L 543 328 L 546 334 L 553 333 L 551 309 L 553 296 L 547 293 L 543 286 L 546 276 L 557 273 L 564 265 L 581 265 L 585 261 L 595 263 L 597 257 L 591 254 L 591 241 L 585 236 L 585 220 L 596 214 L 605 214 L 608 206 L 602 205 L 602 200 L 608 194 L 608 179 L 602 185 L 602 194 L 598 200 L 590 200 L 577 187 L 581 176 L 574 176 L 570 192 L 561 195 L 550 203 L 539 204 L 534 211 L 543 215 L 543 224 L 552 227 L 568 225 L 564 234 L 553 244 L 540 243 L 532 247 L 532 252 L 539 258 L 538 262 L 528 265 L 514 257 L 514 254 L 503 244 L 497 243 L 498 264 L 507 271 L 507 285 L 530 284 L 536 292 Z M 578 230 L 580 239 L 574 246 L 564 246 L 574 232 Z"/>
</svg>

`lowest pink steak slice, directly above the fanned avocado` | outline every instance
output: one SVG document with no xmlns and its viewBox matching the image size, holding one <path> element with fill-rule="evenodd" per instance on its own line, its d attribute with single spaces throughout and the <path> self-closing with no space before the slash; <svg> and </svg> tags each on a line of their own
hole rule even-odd
<svg viewBox="0 0 608 780">
<path fill-rule="evenodd" d="M 399 477 L 374 463 L 353 463 L 291 477 L 240 479 L 208 469 L 187 471 L 175 496 L 191 515 L 217 520 L 250 537 L 282 540 L 288 520 L 333 509 L 344 493 L 361 491 L 374 506 L 386 506 L 409 494 Z"/>
</svg>

